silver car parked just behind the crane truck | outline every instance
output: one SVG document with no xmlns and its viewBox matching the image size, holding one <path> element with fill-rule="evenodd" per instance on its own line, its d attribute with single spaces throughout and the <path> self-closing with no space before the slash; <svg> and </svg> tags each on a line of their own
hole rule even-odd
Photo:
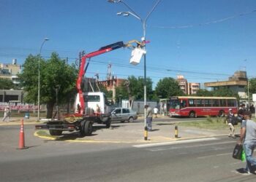
<svg viewBox="0 0 256 182">
<path fill-rule="evenodd" d="M 111 109 L 111 120 L 112 122 L 133 122 L 138 119 L 138 115 L 135 111 L 130 108 L 112 108 Z"/>
</svg>

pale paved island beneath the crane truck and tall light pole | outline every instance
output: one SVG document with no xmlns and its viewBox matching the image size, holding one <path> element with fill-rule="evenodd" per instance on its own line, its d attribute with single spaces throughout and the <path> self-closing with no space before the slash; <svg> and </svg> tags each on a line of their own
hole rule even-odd
<svg viewBox="0 0 256 182">
<path fill-rule="evenodd" d="M 38 124 L 38 122 L 36 123 Z M 170 141 L 181 141 L 195 138 L 209 138 L 219 135 L 227 135 L 229 128 L 223 130 L 206 130 L 197 127 L 178 127 L 178 138 L 175 137 L 176 123 L 173 119 L 165 117 L 154 119 L 153 131 L 148 132 L 148 140 L 144 140 L 144 122 L 137 120 L 132 123 L 113 122 L 109 129 L 104 124 L 94 124 L 94 132 L 91 136 L 80 137 L 78 132 L 64 132 L 64 135 L 53 137 L 48 135 L 48 130 L 35 132 L 35 135 L 48 140 L 72 141 L 84 143 L 161 143 Z M 236 132 L 239 132 L 236 130 Z M 43 133 L 43 134 L 42 134 Z M 45 136 L 46 135 L 46 136 Z M 231 138 L 230 138 L 231 140 Z M 232 139 L 236 140 L 236 139 Z"/>
</svg>

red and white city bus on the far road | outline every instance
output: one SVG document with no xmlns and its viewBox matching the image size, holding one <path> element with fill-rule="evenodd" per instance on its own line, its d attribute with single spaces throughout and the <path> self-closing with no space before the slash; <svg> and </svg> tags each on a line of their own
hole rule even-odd
<svg viewBox="0 0 256 182">
<path fill-rule="evenodd" d="M 178 96 L 170 98 L 170 116 L 225 116 L 228 109 L 238 111 L 236 98 L 233 97 L 193 97 Z"/>
</svg>

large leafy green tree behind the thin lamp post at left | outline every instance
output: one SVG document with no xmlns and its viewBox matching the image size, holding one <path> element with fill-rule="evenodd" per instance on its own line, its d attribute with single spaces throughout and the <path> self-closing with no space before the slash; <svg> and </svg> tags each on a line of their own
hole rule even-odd
<svg viewBox="0 0 256 182">
<path fill-rule="evenodd" d="M 49 60 L 44 60 L 39 55 L 29 55 L 23 64 L 23 71 L 19 75 L 23 90 L 27 92 L 26 102 L 37 103 L 38 94 L 38 61 L 40 61 L 40 103 L 47 106 L 47 118 L 53 114 L 56 103 L 56 89 L 58 89 L 59 103 L 67 101 L 75 93 L 75 80 L 78 71 L 75 66 L 69 66 L 53 52 Z"/>
</svg>

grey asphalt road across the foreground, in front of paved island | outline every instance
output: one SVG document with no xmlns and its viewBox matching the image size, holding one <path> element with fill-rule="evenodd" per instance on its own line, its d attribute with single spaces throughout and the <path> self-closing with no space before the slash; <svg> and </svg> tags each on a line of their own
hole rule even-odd
<svg viewBox="0 0 256 182">
<path fill-rule="evenodd" d="M 33 146 L 17 150 L 14 137 L 2 146 L 3 135 L 7 140 L 17 129 L 0 129 L 1 181 L 255 181 L 255 175 L 236 172 L 245 164 L 232 159 L 232 138 L 146 145 L 72 143 L 33 137 L 33 128 L 27 127 Z"/>
</svg>

